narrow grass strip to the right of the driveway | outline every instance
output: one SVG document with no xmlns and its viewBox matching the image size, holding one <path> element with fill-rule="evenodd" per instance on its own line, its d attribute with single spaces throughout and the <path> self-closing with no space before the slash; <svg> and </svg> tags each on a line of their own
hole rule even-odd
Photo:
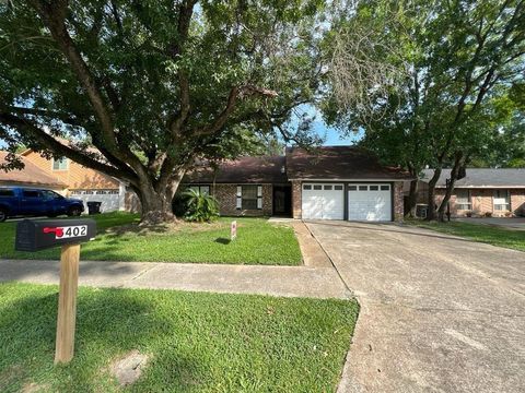
<svg viewBox="0 0 525 393">
<path fill-rule="evenodd" d="M 525 251 L 525 231 L 523 230 L 458 222 L 428 223 L 422 221 L 407 221 L 407 224 L 433 229 L 448 235 L 462 236 L 492 246 Z"/>
</svg>

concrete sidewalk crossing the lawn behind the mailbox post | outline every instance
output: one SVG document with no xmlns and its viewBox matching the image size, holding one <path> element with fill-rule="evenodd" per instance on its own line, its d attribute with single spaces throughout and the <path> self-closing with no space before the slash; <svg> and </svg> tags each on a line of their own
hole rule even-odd
<svg viewBox="0 0 525 393">
<path fill-rule="evenodd" d="M 58 261 L 0 260 L 0 282 L 58 284 Z M 351 297 L 334 267 L 84 261 L 79 279 L 93 287 Z"/>
</svg>

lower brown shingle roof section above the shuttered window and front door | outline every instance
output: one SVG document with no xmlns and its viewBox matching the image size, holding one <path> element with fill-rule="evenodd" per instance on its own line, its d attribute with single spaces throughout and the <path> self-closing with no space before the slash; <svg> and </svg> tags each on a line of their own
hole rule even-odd
<svg viewBox="0 0 525 393">
<path fill-rule="evenodd" d="M 185 181 L 192 183 L 285 183 L 283 156 L 241 157 L 219 165 L 215 172 L 206 164 L 191 170 Z"/>
</svg>

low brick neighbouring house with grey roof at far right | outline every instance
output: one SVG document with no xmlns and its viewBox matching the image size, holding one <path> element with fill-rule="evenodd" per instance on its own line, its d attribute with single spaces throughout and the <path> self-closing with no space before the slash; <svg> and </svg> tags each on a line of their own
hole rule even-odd
<svg viewBox="0 0 525 393">
<path fill-rule="evenodd" d="M 418 203 L 427 203 L 428 182 L 432 169 L 423 170 Z M 436 204 L 445 194 L 451 169 L 443 169 L 435 186 Z M 453 216 L 523 216 L 525 215 L 525 168 L 467 168 L 466 177 L 456 180 L 451 196 Z"/>
</svg>

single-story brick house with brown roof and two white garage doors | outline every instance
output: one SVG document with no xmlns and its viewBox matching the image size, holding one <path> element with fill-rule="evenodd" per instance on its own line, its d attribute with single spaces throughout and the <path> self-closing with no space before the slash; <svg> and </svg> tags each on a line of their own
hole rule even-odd
<svg viewBox="0 0 525 393">
<path fill-rule="evenodd" d="M 283 156 L 242 157 L 189 172 L 185 186 L 210 192 L 222 215 L 291 216 L 304 219 L 402 219 L 402 187 L 410 176 L 378 164 L 352 146 Z"/>
</svg>

